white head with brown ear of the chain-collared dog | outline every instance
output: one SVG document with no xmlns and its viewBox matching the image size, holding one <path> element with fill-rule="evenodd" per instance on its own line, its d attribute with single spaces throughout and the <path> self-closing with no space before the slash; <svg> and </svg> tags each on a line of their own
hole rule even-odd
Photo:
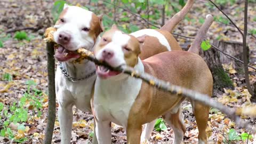
<svg viewBox="0 0 256 144">
<path fill-rule="evenodd" d="M 54 28 L 54 41 L 60 44 L 55 53 L 58 61 L 79 58 L 75 52 L 80 47 L 92 50 L 97 37 L 103 31 L 102 17 L 78 6 L 65 4 Z"/>
</svg>

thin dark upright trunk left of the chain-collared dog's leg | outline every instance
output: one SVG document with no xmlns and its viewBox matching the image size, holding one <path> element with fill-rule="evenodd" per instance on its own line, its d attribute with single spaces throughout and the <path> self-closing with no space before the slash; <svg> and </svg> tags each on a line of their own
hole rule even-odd
<svg viewBox="0 0 256 144">
<path fill-rule="evenodd" d="M 56 117 L 56 97 L 55 97 L 55 60 L 54 60 L 54 43 L 46 43 L 47 50 L 47 72 L 48 72 L 48 91 L 49 91 L 49 101 L 48 101 L 48 113 L 47 113 L 47 126 L 44 144 L 52 143 L 52 135 Z"/>
</svg>

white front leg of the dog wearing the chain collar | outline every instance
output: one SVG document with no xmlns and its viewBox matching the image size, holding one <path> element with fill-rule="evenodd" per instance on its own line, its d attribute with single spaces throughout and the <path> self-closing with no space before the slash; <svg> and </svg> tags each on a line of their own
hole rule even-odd
<svg viewBox="0 0 256 144">
<path fill-rule="evenodd" d="M 59 106 L 58 117 L 60 123 L 60 135 L 61 135 L 61 144 L 70 144 L 71 140 L 71 131 L 72 131 L 72 122 L 73 122 L 73 105 Z"/>
</svg>

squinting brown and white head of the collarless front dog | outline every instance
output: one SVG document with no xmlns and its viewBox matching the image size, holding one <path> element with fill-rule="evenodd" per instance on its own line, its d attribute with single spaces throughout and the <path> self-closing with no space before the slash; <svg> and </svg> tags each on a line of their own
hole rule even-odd
<svg viewBox="0 0 256 144">
<path fill-rule="evenodd" d="M 95 47 L 95 57 L 106 61 L 112 67 L 128 65 L 134 67 L 138 63 L 140 43 L 132 35 L 124 34 L 115 25 L 102 35 L 101 41 Z M 118 75 L 103 66 L 97 66 L 97 74 L 101 78 Z"/>
</svg>

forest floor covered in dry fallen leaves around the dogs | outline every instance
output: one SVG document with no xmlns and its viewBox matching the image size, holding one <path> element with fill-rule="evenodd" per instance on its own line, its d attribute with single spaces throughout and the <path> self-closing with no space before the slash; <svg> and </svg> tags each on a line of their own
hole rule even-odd
<svg viewBox="0 0 256 144">
<path fill-rule="evenodd" d="M 69 1 L 76 5 L 88 4 L 87 1 Z M 91 4 L 96 7 L 97 14 L 108 13 L 109 9 L 99 4 Z M 15 143 L 25 141 L 25 143 L 42 143 L 46 127 L 47 113 L 47 73 L 46 73 L 46 50 L 42 34 L 45 28 L 53 25 L 51 16 L 52 1 L 9 1 L 0 2 L 0 143 Z M 249 30 L 256 33 L 256 4 L 249 5 Z M 243 29 L 243 9 L 242 3 L 225 5 L 223 10 L 230 15 L 236 24 Z M 94 10 L 92 8 L 92 10 Z M 153 9 L 153 8 L 152 8 Z M 111 9 L 113 11 L 114 9 Z M 118 12 L 122 12 L 119 10 Z M 185 36 L 195 36 L 198 28 L 202 25 L 205 15 L 211 13 L 217 17 L 209 30 L 209 39 L 219 39 L 224 41 L 242 42 L 242 37 L 234 27 L 227 26 L 225 17 L 215 8 L 207 6 L 202 1 L 196 1 L 193 9 L 174 30 L 175 33 Z M 150 14 L 154 14 L 151 12 Z M 138 24 L 139 28 L 145 28 L 145 22 L 133 17 L 117 14 L 118 18 L 129 17 L 133 24 Z M 168 17 L 167 17 L 168 18 Z M 167 19 L 166 18 L 166 19 Z M 161 22 L 159 19 L 157 22 Z M 122 21 L 118 25 L 125 27 L 129 23 Z M 16 36 L 11 31 L 15 29 L 29 28 L 25 30 L 26 35 Z M 6 33 L 7 31 L 11 33 Z M 19 31 L 19 30 L 18 30 Z M 18 40 L 19 37 L 25 37 Z M 22 38 L 21 38 L 22 39 Z M 191 42 L 191 39 L 178 37 L 179 43 Z M 2 42 L 2 43 L 1 43 Z M 253 36 L 248 36 L 247 42 L 250 46 L 250 64 L 255 66 L 255 42 Z M 2 45 L 2 46 L 1 46 Z M 214 95 L 215 99 L 230 107 L 252 105 L 251 95 L 244 86 L 244 77 L 226 63 L 223 65 L 228 71 L 235 89 L 224 89 L 223 92 Z M 249 69 L 250 80 L 256 81 L 255 70 Z M 58 106 L 58 104 L 57 104 Z M 27 109 L 27 110 L 24 110 Z M 93 120 L 88 122 L 85 119 L 91 114 L 83 113 L 76 108 L 73 109 L 74 121 L 72 132 L 72 143 L 87 143 L 92 139 Z M 185 143 L 196 143 L 198 129 L 195 118 L 191 110 L 191 105 L 184 102 L 183 113 L 185 115 Z M 244 117 L 246 119 L 246 117 Z M 11 120 L 10 120 L 11 119 Z M 247 118 L 248 119 L 248 118 Z M 253 119 L 249 119 L 252 123 Z M 19 122 L 18 124 L 16 122 Z M 237 129 L 235 124 L 217 109 L 211 109 L 207 128 L 209 143 L 254 143 L 255 135 L 250 136 L 250 132 Z M 3 135 L 5 135 L 3 137 Z M 114 143 L 125 143 L 126 137 L 124 129 L 113 124 L 112 140 Z M 151 136 L 151 143 L 171 143 L 173 131 L 167 126 L 166 131 L 154 132 Z M 241 140 L 242 139 L 242 140 Z M 60 143 L 60 129 L 58 119 L 55 122 L 53 142 Z"/>
</svg>

